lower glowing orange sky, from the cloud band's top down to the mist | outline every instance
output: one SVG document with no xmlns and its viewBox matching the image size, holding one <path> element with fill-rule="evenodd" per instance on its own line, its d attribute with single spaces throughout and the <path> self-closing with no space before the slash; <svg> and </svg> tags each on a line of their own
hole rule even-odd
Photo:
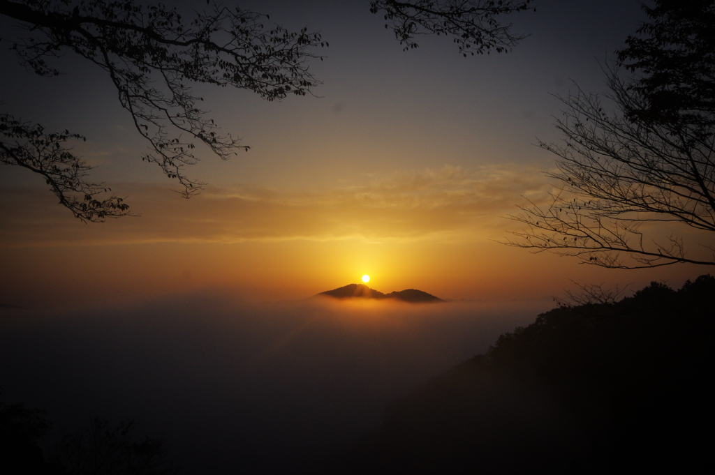
<svg viewBox="0 0 715 475">
<path fill-rule="evenodd" d="M 534 179 L 530 179 L 534 177 Z M 493 240 L 508 236 L 518 190 L 539 174 L 444 167 L 363 186 L 285 193 L 208 189 L 188 201 L 158 186 L 122 184 L 142 216 L 82 224 L 37 189 L 0 194 L 3 299 L 23 306 L 85 306 L 206 288 L 257 300 L 302 299 L 358 282 L 444 299 L 543 299 L 569 279 L 676 286 L 696 266 L 609 271 Z"/>
</svg>

